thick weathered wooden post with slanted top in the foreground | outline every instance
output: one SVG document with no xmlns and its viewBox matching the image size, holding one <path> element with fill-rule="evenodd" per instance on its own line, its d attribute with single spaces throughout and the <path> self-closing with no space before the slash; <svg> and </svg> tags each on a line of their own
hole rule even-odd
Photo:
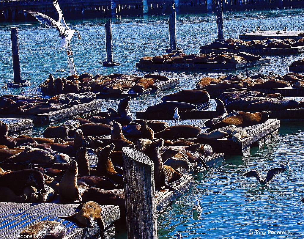
<svg viewBox="0 0 304 239">
<path fill-rule="evenodd" d="M 123 147 L 123 169 L 128 239 L 157 239 L 153 161 Z"/>
</svg>

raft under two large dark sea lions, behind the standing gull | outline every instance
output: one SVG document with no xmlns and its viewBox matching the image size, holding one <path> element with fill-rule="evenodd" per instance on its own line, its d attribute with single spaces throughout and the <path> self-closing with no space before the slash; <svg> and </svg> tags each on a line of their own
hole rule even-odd
<svg viewBox="0 0 304 239">
<path fill-rule="evenodd" d="M 214 101 L 214 99 L 210 99 L 208 103 L 204 103 L 198 106 L 196 110 L 179 111 L 178 114 L 181 117 L 180 119 L 210 119 L 209 117 L 212 117 L 210 113 L 212 114 L 213 111 L 212 110 L 210 111 L 209 109 L 213 105 L 215 105 L 216 107 L 216 102 Z M 150 119 L 150 120 L 173 119 L 173 114 L 165 111 L 149 113 L 144 110 L 144 111 L 136 112 L 136 119 Z"/>
</svg>

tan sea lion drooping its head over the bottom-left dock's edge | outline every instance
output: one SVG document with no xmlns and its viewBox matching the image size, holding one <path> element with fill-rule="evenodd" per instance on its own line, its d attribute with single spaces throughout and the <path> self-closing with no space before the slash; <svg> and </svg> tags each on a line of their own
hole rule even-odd
<svg viewBox="0 0 304 239">
<path fill-rule="evenodd" d="M 80 205 L 81 210 L 77 213 L 72 214 L 71 216 L 58 216 L 59 218 L 71 220 L 72 218 L 76 218 L 78 222 L 86 227 L 93 228 L 94 221 L 98 220 L 100 224 L 98 225 L 100 229 L 103 229 L 105 232 L 105 221 L 101 215 L 101 206 L 98 203 L 89 201 Z"/>
</svg>

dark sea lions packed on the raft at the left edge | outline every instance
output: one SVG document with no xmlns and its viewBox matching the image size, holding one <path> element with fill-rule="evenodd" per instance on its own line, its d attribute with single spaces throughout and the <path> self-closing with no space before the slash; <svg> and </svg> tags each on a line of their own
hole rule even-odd
<svg viewBox="0 0 304 239">
<path fill-rule="evenodd" d="M 91 102 L 93 94 L 62 94 L 50 99 L 28 97 L 24 95 L 2 95 L 0 97 L 0 114 L 35 115 L 49 113 L 71 107 L 71 105 Z"/>
</svg>

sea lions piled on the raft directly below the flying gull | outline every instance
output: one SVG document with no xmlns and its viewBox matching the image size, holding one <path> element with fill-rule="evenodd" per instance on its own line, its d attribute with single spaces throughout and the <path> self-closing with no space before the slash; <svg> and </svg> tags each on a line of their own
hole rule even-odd
<svg viewBox="0 0 304 239">
<path fill-rule="evenodd" d="M 168 77 L 157 74 L 145 74 L 142 77 L 136 74 L 110 74 L 106 76 L 96 74 L 93 76 L 90 73 L 84 73 L 79 76 L 69 75 L 67 78 L 56 79 L 50 74 L 50 77 L 39 87 L 41 92 L 47 95 L 85 92 L 121 94 L 130 89 L 140 93 L 147 88 L 161 91 L 159 86 L 154 83 L 168 80 Z"/>
</svg>

